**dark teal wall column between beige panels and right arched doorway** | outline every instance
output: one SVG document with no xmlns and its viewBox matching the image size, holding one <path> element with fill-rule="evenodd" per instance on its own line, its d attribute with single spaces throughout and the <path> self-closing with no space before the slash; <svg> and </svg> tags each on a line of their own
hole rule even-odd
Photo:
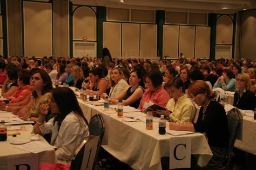
<svg viewBox="0 0 256 170">
<path fill-rule="evenodd" d="M 210 59 L 215 59 L 215 50 L 216 50 L 216 22 L 217 14 L 209 13 L 208 25 L 211 27 L 210 34 Z"/>
</svg>

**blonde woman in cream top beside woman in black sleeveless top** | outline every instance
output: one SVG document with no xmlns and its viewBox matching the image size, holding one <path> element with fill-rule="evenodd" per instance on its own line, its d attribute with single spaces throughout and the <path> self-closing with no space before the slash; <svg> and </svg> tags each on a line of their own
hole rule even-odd
<svg viewBox="0 0 256 170">
<path fill-rule="evenodd" d="M 117 67 L 115 69 L 112 69 L 109 97 L 117 96 L 128 86 L 129 86 L 128 83 L 124 80 L 124 76 L 121 68 Z"/>
</svg>

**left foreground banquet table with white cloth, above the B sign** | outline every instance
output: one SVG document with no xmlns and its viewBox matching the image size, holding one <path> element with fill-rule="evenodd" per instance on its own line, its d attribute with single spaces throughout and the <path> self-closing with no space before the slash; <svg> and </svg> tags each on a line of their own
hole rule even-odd
<svg viewBox="0 0 256 170">
<path fill-rule="evenodd" d="M 2 114 L 7 114 L 7 113 L 6 112 L 3 113 L 1 111 L 0 115 L 2 115 Z M 27 131 L 19 131 L 20 135 L 17 135 L 16 137 L 7 136 L 6 141 L 0 142 L 0 146 L 1 146 L 0 170 L 7 170 L 8 158 L 36 155 L 29 151 L 24 151 L 24 150 L 14 148 L 15 145 L 10 144 L 10 141 L 12 141 L 14 139 L 30 139 L 30 133 L 32 132 L 33 126 L 31 124 L 20 124 L 20 125 L 10 125 L 10 126 L 23 126 L 27 129 Z M 47 141 L 42 136 L 40 136 L 40 138 L 42 139 L 42 140 L 40 140 L 41 142 L 47 143 Z M 53 164 L 53 163 L 57 162 L 57 158 L 56 158 L 54 149 L 40 152 L 40 153 L 38 153 L 38 155 L 39 155 L 39 166 L 41 163 Z"/>
</svg>

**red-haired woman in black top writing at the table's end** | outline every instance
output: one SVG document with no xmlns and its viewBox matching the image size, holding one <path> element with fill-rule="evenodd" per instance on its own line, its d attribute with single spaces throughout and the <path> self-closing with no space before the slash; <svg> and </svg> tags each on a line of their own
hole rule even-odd
<svg viewBox="0 0 256 170">
<path fill-rule="evenodd" d="M 213 153 L 213 157 L 207 166 L 221 166 L 225 161 L 229 136 L 228 119 L 224 107 L 217 101 L 212 100 L 215 93 L 210 91 L 208 84 L 202 80 L 197 80 L 190 85 L 188 95 L 198 106 L 202 106 L 197 122 L 182 125 L 171 122 L 169 128 L 172 130 L 205 132 Z"/>
</svg>

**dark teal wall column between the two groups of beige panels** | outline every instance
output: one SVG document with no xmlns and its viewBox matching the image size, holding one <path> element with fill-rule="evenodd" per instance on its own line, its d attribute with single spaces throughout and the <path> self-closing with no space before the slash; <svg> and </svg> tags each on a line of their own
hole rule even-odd
<svg viewBox="0 0 256 170">
<path fill-rule="evenodd" d="M 165 23 L 165 11 L 157 10 L 155 11 L 155 20 L 157 24 L 157 57 L 162 59 L 162 48 L 163 48 L 163 25 Z"/>
</svg>

